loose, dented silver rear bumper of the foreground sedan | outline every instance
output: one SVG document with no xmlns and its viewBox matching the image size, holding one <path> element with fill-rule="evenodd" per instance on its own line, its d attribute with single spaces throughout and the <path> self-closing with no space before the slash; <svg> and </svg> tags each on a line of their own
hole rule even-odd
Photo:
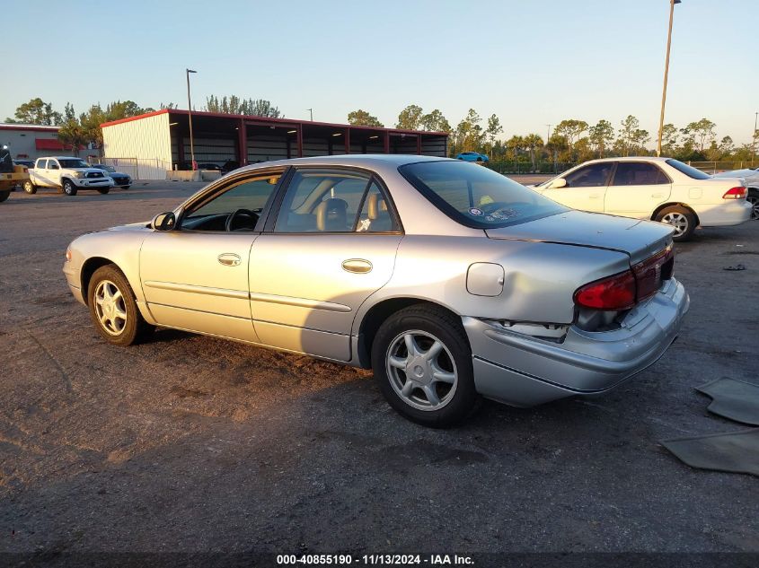
<svg viewBox="0 0 759 568">
<path fill-rule="evenodd" d="M 673 278 L 633 308 L 621 328 L 587 332 L 572 326 L 561 343 L 463 318 L 475 387 L 483 397 L 513 406 L 602 393 L 658 361 L 675 341 L 689 305 L 683 285 Z"/>
</svg>

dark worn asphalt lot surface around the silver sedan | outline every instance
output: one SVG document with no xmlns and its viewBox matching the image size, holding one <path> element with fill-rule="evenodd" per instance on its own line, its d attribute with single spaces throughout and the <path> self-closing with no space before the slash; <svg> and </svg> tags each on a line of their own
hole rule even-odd
<svg viewBox="0 0 759 568">
<path fill-rule="evenodd" d="M 393 412 L 366 371 L 171 330 L 98 338 L 61 274 L 67 243 L 198 187 L 0 204 L 0 551 L 759 551 L 756 478 L 658 444 L 741 429 L 693 387 L 759 381 L 759 223 L 677 247 L 691 312 L 636 380 L 485 403 L 436 431 Z"/>
</svg>

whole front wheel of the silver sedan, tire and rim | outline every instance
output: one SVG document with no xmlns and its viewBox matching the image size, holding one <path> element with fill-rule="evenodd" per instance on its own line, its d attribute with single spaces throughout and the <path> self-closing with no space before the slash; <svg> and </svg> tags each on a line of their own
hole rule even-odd
<svg viewBox="0 0 759 568">
<path fill-rule="evenodd" d="M 95 328 L 113 345 L 133 345 L 154 330 L 142 317 L 127 277 L 114 265 L 95 270 L 87 291 Z"/>
</svg>

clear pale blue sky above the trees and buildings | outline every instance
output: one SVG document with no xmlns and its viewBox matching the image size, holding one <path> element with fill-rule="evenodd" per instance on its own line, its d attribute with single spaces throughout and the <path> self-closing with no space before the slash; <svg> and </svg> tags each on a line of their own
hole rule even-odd
<svg viewBox="0 0 759 568">
<path fill-rule="evenodd" d="M 134 100 L 187 108 L 207 95 L 262 98 L 287 118 L 344 123 L 365 109 L 393 127 L 409 104 L 455 126 L 495 113 L 503 138 L 563 118 L 652 140 L 664 73 L 667 0 L 35 0 L 4 8 L 0 119 L 33 97 L 82 112 Z M 41 25 L 40 25 L 41 24 Z M 710 118 L 750 142 L 759 111 L 759 0 L 675 5 L 666 122 Z"/>
</svg>

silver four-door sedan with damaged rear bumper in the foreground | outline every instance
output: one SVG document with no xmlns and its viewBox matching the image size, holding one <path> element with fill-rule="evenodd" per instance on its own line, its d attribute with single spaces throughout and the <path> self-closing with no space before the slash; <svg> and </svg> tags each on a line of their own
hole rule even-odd
<svg viewBox="0 0 759 568">
<path fill-rule="evenodd" d="M 655 363 L 689 300 L 672 228 L 573 211 L 456 160 L 235 170 L 150 223 L 85 234 L 64 273 L 115 345 L 155 326 L 374 370 L 421 424 L 478 396 L 596 395 Z"/>
</svg>

